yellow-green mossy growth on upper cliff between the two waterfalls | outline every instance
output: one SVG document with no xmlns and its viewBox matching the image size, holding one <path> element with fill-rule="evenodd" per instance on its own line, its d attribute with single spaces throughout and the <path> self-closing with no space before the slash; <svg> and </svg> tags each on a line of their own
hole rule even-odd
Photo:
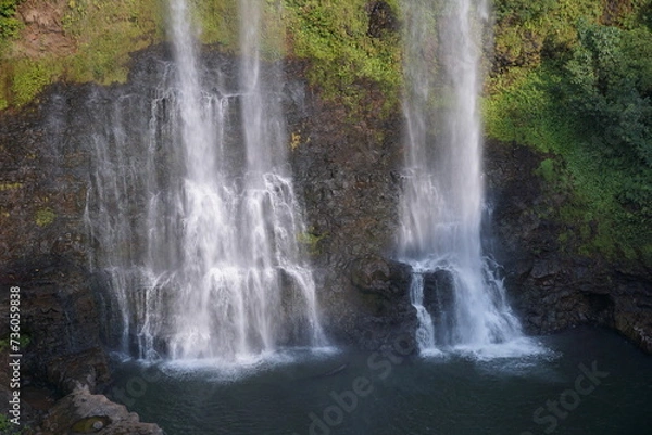
<svg viewBox="0 0 652 435">
<path fill-rule="evenodd" d="M 400 35 L 368 34 L 366 0 L 286 0 L 290 51 L 309 59 L 310 80 L 327 98 L 356 107 L 365 98 L 365 87 L 380 86 L 388 105 L 398 101 L 402 82 Z M 396 1 L 388 2 L 393 11 Z M 387 107 L 386 107 L 387 108 Z"/>
</svg>

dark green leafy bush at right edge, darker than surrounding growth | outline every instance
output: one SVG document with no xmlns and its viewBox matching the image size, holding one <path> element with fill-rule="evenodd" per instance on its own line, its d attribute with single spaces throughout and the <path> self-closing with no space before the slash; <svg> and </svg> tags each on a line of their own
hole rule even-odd
<svg viewBox="0 0 652 435">
<path fill-rule="evenodd" d="M 590 150 L 617 174 L 616 199 L 652 221 L 652 33 L 579 27 L 564 97 L 582 120 Z"/>
</svg>

